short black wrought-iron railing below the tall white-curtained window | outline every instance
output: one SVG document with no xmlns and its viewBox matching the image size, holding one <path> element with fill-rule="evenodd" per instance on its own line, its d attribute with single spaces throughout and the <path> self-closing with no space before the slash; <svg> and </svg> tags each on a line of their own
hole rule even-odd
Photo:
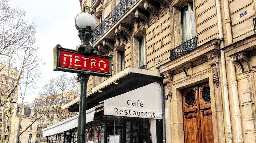
<svg viewBox="0 0 256 143">
<path fill-rule="evenodd" d="M 187 52 L 195 49 L 197 47 L 197 37 L 194 37 L 184 43 L 182 43 L 180 46 L 170 50 L 170 57 L 171 60 L 186 54 Z"/>
</svg>

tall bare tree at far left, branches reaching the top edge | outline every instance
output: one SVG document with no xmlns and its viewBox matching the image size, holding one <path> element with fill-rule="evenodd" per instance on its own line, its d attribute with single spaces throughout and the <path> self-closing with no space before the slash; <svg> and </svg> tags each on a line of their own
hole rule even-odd
<svg viewBox="0 0 256 143">
<path fill-rule="evenodd" d="M 25 91 L 22 90 L 20 94 L 20 97 L 24 98 L 27 88 L 33 87 L 31 83 L 37 81 L 35 75 L 39 75 L 38 68 L 42 64 L 36 55 L 38 47 L 35 33 L 35 24 L 26 18 L 24 11 L 11 8 L 8 0 L 0 0 L 0 72 L 4 73 L 1 74 L 1 81 L 7 81 L 0 86 L 0 107 L 3 117 L 1 143 L 9 141 L 10 134 L 5 141 L 5 124 L 7 118 L 14 114 L 12 111 L 15 106 L 11 103 L 13 99 L 17 100 L 18 89 L 25 87 Z M 29 79 L 26 81 L 27 77 Z M 11 84 L 8 82 L 9 79 L 14 79 Z M 11 125 L 11 121 L 9 124 Z"/>
</svg>

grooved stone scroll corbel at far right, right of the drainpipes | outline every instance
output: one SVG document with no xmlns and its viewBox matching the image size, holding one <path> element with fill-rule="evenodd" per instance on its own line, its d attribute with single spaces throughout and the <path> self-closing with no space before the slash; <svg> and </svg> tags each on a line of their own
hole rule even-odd
<svg viewBox="0 0 256 143">
<path fill-rule="evenodd" d="M 234 63 L 238 73 L 250 70 L 247 53 L 242 52 L 242 53 L 233 55 L 231 57 L 232 57 L 231 61 Z"/>
</svg>

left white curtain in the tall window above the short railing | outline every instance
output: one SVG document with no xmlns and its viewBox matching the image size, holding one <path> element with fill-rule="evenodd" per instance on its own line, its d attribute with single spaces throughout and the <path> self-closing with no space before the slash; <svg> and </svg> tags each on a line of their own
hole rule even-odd
<svg viewBox="0 0 256 143">
<path fill-rule="evenodd" d="M 184 43 L 185 41 L 190 39 L 188 5 L 181 8 L 181 31 L 182 31 L 182 43 Z"/>
</svg>

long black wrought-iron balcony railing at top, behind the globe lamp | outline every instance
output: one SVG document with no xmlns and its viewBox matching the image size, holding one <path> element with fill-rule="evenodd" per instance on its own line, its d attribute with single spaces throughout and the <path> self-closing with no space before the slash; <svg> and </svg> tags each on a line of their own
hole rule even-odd
<svg viewBox="0 0 256 143">
<path fill-rule="evenodd" d="M 93 31 L 89 42 L 93 45 L 107 30 L 109 30 L 133 5 L 139 0 L 122 0 L 110 14 Z M 94 1 L 92 0 L 92 3 Z"/>
</svg>

